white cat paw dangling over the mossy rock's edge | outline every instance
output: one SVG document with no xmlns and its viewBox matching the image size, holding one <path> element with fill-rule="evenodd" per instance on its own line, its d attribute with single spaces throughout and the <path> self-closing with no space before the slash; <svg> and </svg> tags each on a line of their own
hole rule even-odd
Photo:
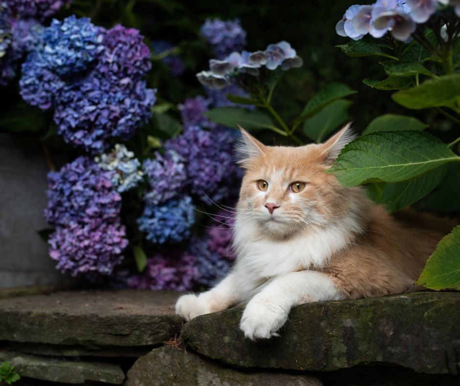
<svg viewBox="0 0 460 386">
<path fill-rule="evenodd" d="M 276 333 L 288 318 L 288 313 L 269 301 L 253 299 L 241 317 L 240 330 L 251 340 L 279 337 Z"/>
</svg>

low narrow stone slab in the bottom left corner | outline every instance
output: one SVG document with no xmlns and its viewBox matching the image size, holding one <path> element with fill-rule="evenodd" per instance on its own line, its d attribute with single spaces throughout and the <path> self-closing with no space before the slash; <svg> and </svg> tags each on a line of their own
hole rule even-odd
<svg viewBox="0 0 460 386">
<path fill-rule="evenodd" d="M 82 384 L 98 381 L 120 385 L 125 379 L 123 370 L 112 363 L 62 361 L 11 351 L 0 351 L 0 362 L 10 361 L 21 377 L 43 381 Z"/>
</svg>

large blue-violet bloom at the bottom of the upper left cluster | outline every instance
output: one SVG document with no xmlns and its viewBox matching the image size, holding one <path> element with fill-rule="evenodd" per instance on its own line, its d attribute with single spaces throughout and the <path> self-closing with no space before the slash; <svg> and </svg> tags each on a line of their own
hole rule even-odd
<svg viewBox="0 0 460 386">
<path fill-rule="evenodd" d="M 94 73 L 68 84 L 57 99 L 54 122 L 67 143 L 97 154 L 107 148 L 107 139 L 132 137 L 138 126 L 151 117 L 156 90 L 142 80 L 124 78 L 114 83 Z"/>
</svg>

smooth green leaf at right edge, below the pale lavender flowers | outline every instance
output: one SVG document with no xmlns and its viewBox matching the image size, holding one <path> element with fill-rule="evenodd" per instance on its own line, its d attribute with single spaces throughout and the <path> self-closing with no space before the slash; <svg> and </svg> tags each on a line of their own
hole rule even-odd
<svg viewBox="0 0 460 386">
<path fill-rule="evenodd" d="M 460 74 L 446 75 L 423 82 L 420 87 L 399 91 L 391 96 L 408 109 L 446 106 L 458 109 Z"/>
</svg>

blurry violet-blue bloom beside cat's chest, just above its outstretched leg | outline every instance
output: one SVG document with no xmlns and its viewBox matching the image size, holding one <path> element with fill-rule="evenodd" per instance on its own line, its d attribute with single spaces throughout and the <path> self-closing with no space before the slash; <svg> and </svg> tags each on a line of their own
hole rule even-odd
<svg viewBox="0 0 460 386">
<path fill-rule="evenodd" d="M 211 252 L 206 239 L 193 238 L 190 241 L 188 252 L 196 256 L 198 269 L 197 284 L 211 287 L 230 271 L 230 262 L 216 252 Z"/>
</svg>

